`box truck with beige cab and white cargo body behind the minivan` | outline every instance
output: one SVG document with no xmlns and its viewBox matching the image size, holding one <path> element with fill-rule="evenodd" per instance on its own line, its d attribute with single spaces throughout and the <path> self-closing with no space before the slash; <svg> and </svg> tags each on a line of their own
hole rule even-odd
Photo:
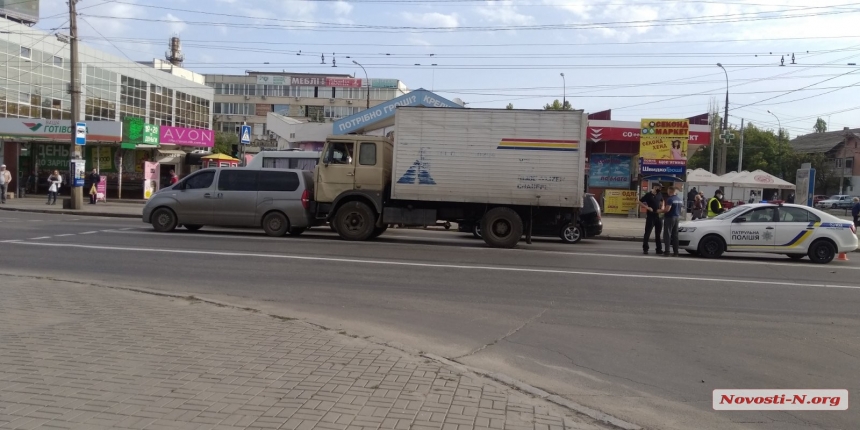
<svg viewBox="0 0 860 430">
<path fill-rule="evenodd" d="M 316 169 L 315 213 L 346 240 L 392 224 L 479 223 L 513 247 L 534 225 L 575 222 L 582 207 L 582 111 L 398 107 L 394 141 L 330 136 Z"/>
</svg>

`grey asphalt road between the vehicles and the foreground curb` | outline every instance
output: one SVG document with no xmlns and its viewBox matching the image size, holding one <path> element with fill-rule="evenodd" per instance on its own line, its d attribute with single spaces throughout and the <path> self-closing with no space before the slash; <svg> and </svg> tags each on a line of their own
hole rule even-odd
<svg viewBox="0 0 860 430">
<path fill-rule="evenodd" d="M 0 212 L 0 272 L 249 304 L 508 374 L 654 429 L 847 429 L 840 412 L 715 412 L 717 388 L 860 398 L 860 257 L 644 256 L 542 239 L 494 250 L 445 231 L 377 242 Z M 2 286 L 0 286 L 2 288 Z"/>
</svg>

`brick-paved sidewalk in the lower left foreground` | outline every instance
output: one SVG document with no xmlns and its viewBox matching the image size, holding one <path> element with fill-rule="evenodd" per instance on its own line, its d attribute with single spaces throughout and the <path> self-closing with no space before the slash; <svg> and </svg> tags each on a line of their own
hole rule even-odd
<svg viewBox="0 0 860 430">
<path fill-rule="evenodd" d="M 301 321 L 8 275 L 0 292 L 3 429 L 606 428 Z"/>
</svg>

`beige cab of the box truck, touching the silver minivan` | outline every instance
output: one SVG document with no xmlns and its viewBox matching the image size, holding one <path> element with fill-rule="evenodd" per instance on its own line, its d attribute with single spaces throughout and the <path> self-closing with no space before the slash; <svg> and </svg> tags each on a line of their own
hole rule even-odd
<svg viewBox="0 0 860 430">
<path fill-rule="evenodd" d="M 329 136 L 314 172 L 317 219 L 335 223 L 336 215 L 346 217 L 346 224 L 354 227 L 353 234 L 338 233 L 353 240 L 368 238 L 362 237 L 367 223 L 375 227 L 373 234 L 382 234 L 380 214 L 391 184 L 392 156 L 393 146 L 386 137 Z M 344 205 L 351 210 L 339 213 Z"/>
</svg>

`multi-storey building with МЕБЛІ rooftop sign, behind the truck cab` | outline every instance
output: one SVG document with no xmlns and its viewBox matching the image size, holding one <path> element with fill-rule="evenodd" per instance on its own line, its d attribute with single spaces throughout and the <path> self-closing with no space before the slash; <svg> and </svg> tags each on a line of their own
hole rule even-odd
<svg viewBox="0 0 860 430">
<path fill-rule="evenodd" d="M 369 85 L 368 85 L 369 84 Z M 206 75 L 215 91 L 213 115 L 218 131 L 236 132 L 251 125 L 255 141 L 270 142 L 266 116 L 272 112 L 312 122 L 334 122 L 409 92 L 397 79 L 351 75 L 248 72 Z M 284 136 L 285 138 L 287 136 Z M 264 144 L 264 143 L 261 143 Z"/>
</svg>

